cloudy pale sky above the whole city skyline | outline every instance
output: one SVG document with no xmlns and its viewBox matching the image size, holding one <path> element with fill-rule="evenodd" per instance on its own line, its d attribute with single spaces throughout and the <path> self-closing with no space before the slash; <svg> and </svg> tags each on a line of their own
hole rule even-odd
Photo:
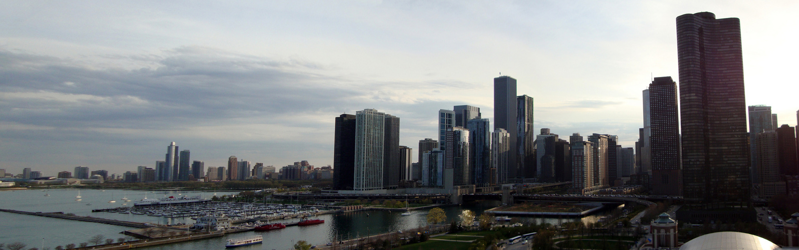
<svg viewBox="0 0 799 250">
<path fill-rule="evenodd" d="M 493 122 L 500 74 L 536 133 L 634 147 L 642 90 L 678 81 L 675 18 L 703 11 L 741 19 L 747 105 L 797 125 L 796 1 L 2 1 L 0 169 L 124 173 L 171 141 L 206 168 L 332 165 L 341 113 L 400 117 L 415 149 L 439 109 Z"/>
</svg>

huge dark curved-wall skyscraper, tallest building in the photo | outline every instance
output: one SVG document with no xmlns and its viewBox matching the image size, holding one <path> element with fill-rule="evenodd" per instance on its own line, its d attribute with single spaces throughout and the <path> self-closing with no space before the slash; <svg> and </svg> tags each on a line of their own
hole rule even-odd
<svg viewBox="0 0 799 250">
<path fill-rule="evenodd" d="M 683 14 L 677 18 L 677 42 L 686 204 L 748 206 L 741 23 L 709 12 Z M 741 218 L 730 220 L 736 217 Z"/>
</svg>

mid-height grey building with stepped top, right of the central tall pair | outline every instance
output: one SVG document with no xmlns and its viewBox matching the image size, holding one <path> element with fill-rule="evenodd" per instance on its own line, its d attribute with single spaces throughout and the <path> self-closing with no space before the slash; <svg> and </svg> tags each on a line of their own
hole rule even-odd
<svg viewBox="0 0 799 250">
<path fill-rule="evenodd" d="M 541 129 L 541 134 L 535 137 L 535 177 L 539 182 L 555 182 L 555 143 L 558 141 L 558 135 L 550 133 L 550 129 Z"/>
</svg>

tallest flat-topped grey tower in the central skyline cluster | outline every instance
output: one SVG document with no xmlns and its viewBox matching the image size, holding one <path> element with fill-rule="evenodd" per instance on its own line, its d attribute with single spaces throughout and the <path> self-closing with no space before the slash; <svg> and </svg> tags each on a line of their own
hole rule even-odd
<svg viewBox="0 0 799 250">
<path fill-rule="evenodd" d="M 523 178 L 524 173 L 519 169 L 517 148 L 517 101 L 516 79 L 513 77 L 494 78 L 494 129 L 505 129 L 511 136 L 511 157 L 507 159 L 507 178 Z M 505 167 L 503 167 L 504 169 Z M 498 171 L 500 171 L 498 169 Z"/>
</svg>

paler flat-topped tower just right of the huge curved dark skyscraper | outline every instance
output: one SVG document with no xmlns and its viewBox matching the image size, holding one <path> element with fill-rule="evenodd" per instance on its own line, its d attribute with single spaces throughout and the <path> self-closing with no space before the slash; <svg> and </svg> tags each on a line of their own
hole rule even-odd
<svg viewBox="0 0 799 250">
<path fill-rule="evenodd" d="M 753 184 L 760 184 L 760 171 L 757 170 L 757 134 L 777 129 L 771 107 L 766 105 L 749 106 L 749 175 Z"/>
</svg>

